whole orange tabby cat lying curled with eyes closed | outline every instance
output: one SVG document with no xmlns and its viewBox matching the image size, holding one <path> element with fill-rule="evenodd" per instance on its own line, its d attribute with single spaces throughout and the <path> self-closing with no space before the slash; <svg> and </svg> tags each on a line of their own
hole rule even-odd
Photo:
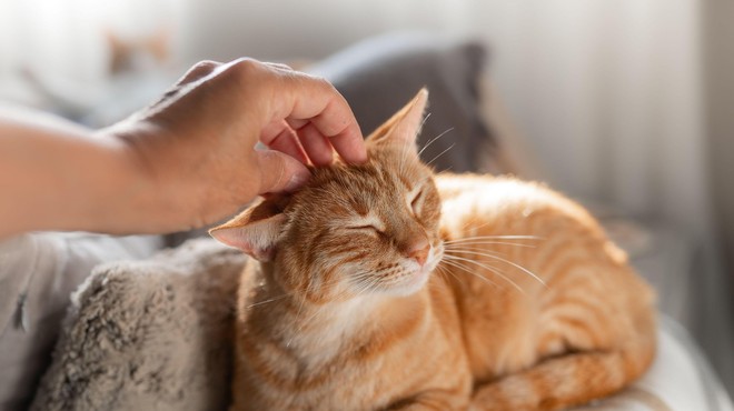
<svg viewBox="0 0 734 411">
<path fill-rule="evenodd" d="M 536 184 L 435 176 L 427 92 L 367 140 L 212 230 L 252 255 L 234 410 L 558 410 L 655 351 L 653 293 L 579 206 Z"/>
</svg>

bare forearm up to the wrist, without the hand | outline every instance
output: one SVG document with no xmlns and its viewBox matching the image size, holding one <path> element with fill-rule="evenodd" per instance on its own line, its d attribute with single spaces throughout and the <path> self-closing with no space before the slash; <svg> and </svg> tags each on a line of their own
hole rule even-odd
<svg viewBox="0 0 734 411">
<path fill-rule="evenodd" d="M 0 238 L 31 230 L 146 231 L 150 183 L 121 142 L 59 119 L 0 114 Z M 140 224 L 138 224 L 140 225 Z"/>
</svg>

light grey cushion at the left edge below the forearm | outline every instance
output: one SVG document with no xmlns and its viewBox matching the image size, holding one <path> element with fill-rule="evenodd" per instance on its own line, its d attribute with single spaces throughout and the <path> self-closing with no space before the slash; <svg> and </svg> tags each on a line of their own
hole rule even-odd
<svg viewBox="0 0 734 411">
<path fill-rule="evenodd" d="M 0 409 L 24 409 L 50 362 L 69 295 L 102 261 L 151 255 L 159 237 L 29 233 L 0 242 Z"/>
</svg>

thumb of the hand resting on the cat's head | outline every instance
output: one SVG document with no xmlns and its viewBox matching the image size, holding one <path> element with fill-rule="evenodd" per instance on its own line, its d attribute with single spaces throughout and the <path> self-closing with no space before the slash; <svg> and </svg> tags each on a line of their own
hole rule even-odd
<svg viewBox="0 0 734 411">
<path fill-rule="evenodd" d="M 306 166 L 280 151 L 256 150 L 256 153 L 260 170 L 258 194 L 295 191 L 311 177 Z"/>
</svg>

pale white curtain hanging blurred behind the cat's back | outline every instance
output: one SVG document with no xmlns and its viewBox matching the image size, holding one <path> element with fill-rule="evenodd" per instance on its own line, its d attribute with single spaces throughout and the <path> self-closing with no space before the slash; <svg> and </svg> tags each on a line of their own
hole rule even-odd
<svg viewBox="0 0 734 411">
<path fill-rule="evenodd" d="M 555 187 L 710 232 L 696 1 L 473 4 L 492 76 Z"/>
</svg>

